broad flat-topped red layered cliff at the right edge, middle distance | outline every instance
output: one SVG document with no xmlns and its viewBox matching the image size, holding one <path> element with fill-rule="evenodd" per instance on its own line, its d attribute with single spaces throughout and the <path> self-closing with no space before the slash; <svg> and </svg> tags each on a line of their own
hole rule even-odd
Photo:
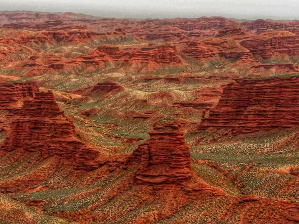
<svg viewBox="0 0 299 224">
<path fill-rule="evenodd" d="M 200 129 L 230 128 L 234 134 L 299 125 L 299 78 L 240 79 L 223 88 Z"/>
</svg>

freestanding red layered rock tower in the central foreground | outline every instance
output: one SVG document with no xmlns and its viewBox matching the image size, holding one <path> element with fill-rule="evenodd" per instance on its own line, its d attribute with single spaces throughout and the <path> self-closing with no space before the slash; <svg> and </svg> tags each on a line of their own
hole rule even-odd
<svg viewBox="0 0 299 224">
<path fill-rule="evenodd" d="M 150 139 L 140 144 L 126 166 L 140 164 L 139 183 L 179 184 L 191 177 L 191 159 L 179 124 L 154 125 Z"/>
</svg>

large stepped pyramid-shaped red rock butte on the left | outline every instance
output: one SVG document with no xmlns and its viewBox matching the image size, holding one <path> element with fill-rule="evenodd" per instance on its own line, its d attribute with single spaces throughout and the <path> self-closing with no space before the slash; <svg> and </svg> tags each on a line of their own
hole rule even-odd
<svg viewBox="0 0 299 224">
<path fill-rule="evenodd" d="M 96 152 L 75 138 L 74 125 L 60 111 L 51 91 L 35 92 L 14 113 L 11 133 L 0 150 L 40 152 L 43 159 L 57 156 L 74 169 L 92 170 L 98 165 Z"/>
</svg>

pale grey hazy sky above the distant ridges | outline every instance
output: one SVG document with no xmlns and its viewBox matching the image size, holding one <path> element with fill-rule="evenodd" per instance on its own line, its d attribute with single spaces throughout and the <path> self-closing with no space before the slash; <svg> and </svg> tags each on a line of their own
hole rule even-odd
<svg viewBox="0 0 299 224">
<path fill-rule="evenodd" d="M 98 16 L 299 19 L 299 0 L 0 0 L 0 10 L 86 13 Z"/>
</svg>

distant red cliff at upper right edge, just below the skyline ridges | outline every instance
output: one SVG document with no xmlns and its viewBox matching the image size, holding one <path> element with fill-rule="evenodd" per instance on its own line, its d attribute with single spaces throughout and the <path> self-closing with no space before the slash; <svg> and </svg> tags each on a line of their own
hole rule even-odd
<svg viewBox="0 0 299 224">
<path fill-rule="evenodd" d="M 280 55 L 299 55 L 299 36 L 290 32 L 267 32 L 245 39 L 240 43 L 253 55 L 264 59 Z"/>
</svg>

